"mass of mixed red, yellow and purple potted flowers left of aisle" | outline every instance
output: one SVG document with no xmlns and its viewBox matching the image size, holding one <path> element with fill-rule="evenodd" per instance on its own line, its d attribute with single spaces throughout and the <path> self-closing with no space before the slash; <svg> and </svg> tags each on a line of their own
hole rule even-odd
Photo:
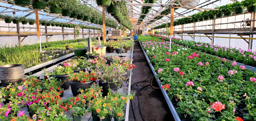
<svg viewBox="0 0 256 121">
<path fill-rule="evenodd" d="M 44 70 L 44 79 L 29 75 L 20 84 L 1 88 L 0 101 L 5 103 L 0 104 L 1 121 L 71 121 L 88 112 L 101 119 L 111 115 L 116 119 L 124 118 L 124 105 L 135 93 L 122 94 L 118 89 L 128 90 L 129 76 L 123 74 L 135 65 L 131 64 L 130 58 L 120 58 L 117 55 L 112 55 L 111 58 L 111 64 L 107 64 L 105 58 L 69 60 L 56 66 L 52 72 Z M 74 73 L 76 69 L 85 71 Z M 56 75 L 68 77 L 61 81 Z M 74 97 L 62 99 L 65 94 L 64 84 L 67 82 L 79 85 L 92 82 L 94 86 L 80 88 L 77 95 L 74 95 L 71 86 Z M 100 86 L 109 82 L 113 82 L 116 88 L 106 90 Z M 23 107 L 27 107 L 29 114 L 24 113 Z M 67 111 L 72 113 L 72 118 L 67 117 Z"/>
</svg>

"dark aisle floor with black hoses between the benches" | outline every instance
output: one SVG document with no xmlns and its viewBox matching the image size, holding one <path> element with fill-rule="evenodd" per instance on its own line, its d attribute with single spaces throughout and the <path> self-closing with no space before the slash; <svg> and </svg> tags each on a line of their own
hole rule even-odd
<svg viewBox="0 0 256 121">
<path fill-rule="evenodd" d="M 131 84 L 145 80 L 150 73 L 151 75 L 146 81 L 149 81 L 149 79 L 154 76 L 147 60 L 145 59 L 143 51 L 140 48 L 139 42 L 134 42 L 133 64 L 135 64 L 136 67 L 132 70 L 133 76 L 131 78 Z M 138 84 L 139 87 L 137 87 L 136 84 L 131 86 L 131 90 L 136 92 L 136 95 L 132 100 L 136 121 L 143 121 L 140 116 L 140 111 L 144 121 L 175 121 L 161 90 L 153 89 L 151 86 L 143 88 L 148 84 L 148 82 L 143 82 Z M 153 81 L 153 86 L 159 87 L 155 79 Z M 140 94 L 138 94 L 139 89 L 141 89 Z M 137 95 L 139 95 L 140 98 L 140 111 Z M 135 121 L 131 109 L 131 103 L 129 109 L 129 121 Z"/>
</svg>

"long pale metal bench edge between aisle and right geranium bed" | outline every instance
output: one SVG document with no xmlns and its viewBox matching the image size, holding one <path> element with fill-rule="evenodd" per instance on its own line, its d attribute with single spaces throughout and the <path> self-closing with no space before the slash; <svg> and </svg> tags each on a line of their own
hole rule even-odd
<svg viewBox="0 0 256 121">
<path fill-rule="evenodd" d="M 150 63 L 150 60 L 148 59 L 148 56 L 146 55 L 146 53 L 145 53 L 143 47 L 141 46 L 141 43 L 140 43 L 140 47 L 142 48 L 143 53 L 144 53 L 146 59 L 148 60 L 148 64 L 149 64 L 149 66 L 150 66 L 150 68 L 151 68 L 151 70 L 152 70 L 152 72 L 153 72 L 155 78 L 157 78 L 157 73 L 154 72 L 154 67 L 153 67 L 152 64 Z M 158 78 L 157 78 L 157 83 L 158 83 L 158 85 L 159 85 L 160 87 L 163 86 L 162 84 L 160 84 L 160 80 L 159 80 Z M 164 98 L 166 99 L 166 102 L 167 102 L 167 104 L 168 104 L 168 106 L 169 106 L 169 108 L 170 108 L 170 110 L 171 110 L 171 112 L 172 112 L 172 115 L 173 115 L 173 118 L 175 119 L 175 121 L 183 121 L 183 120 L 180 120 L 180 117 L 179 117 L 179 115 L 177 114 L 177 112 L 176 112 L 176 110 L 175 110 L 175 107 L 173 106 L 173 104 L 172 104 L 172 102 L 171 102 L 169 96 L 167 95 L 166 91 L 164 91 L 163 88 L 160 88 L 160 89 L 161 89 L 161 91 L 162 91 L 162 93 L 163 93 Z M 186 121 L 191 121 L 191 120 L 186 120 Z"/>
</svg>

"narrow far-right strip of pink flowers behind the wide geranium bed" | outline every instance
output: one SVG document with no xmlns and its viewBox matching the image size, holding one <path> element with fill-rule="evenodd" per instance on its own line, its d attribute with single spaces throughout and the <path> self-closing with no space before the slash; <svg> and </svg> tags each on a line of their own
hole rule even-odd
<svg viewBox="0 0 256 121">
<path fill-rule="evenodd" d="M 160 37 L 160 39 L 168 40 L 168 38 L 163 36 L 155 36 Z M 256 67 L 256 51 L 253 51 L 252 49 L 243 50 L 237 47 L 233 48 L 232 46 L 228 48 L 218 44 L 212 45 L 211 43 L 195 42 L 192 40 L 182 40 L 177 38 L 172 38 L 172 41 L 181 46 L 188 46 L 191 49 L 205 52 L 210 55 L 216 55 L 221 58 Z"/>
</svg>

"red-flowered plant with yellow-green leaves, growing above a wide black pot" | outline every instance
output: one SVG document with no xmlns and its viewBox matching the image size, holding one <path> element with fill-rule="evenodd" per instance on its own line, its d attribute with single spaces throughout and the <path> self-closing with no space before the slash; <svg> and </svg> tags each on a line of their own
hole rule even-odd
<svg viewBox="0 0 256 121">
<path fill-rule="evenodd" d="M 68 81 L 86 83 L 87 81 L 96 81 L 97 75 L 95 72 L 87 74 L 87 72 L 80 71 L 79 73 L 70 74 L 67 78 Z"/>
</svg>

